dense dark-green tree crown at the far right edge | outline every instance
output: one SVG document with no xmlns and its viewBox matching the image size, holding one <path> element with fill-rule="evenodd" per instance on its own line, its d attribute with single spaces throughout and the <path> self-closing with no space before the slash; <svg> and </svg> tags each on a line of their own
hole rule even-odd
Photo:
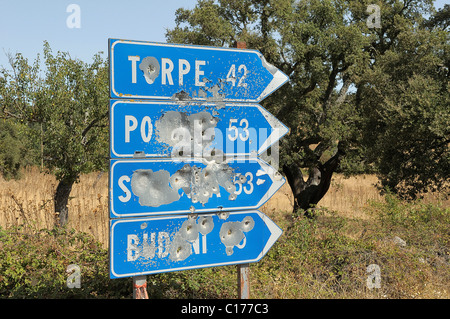
<svg viewBox="0 0 450 319">
<path fill-rule="evenodd" d="M 376 63 L 358 90 L 361 131 L 371 143 L 366 156 L 376 163 L 382 185 L 406 199 L 428 191 L 448 194 L 449 8 L 428 20 L 393 21 L 395 43 L 373 43 Z"/>
</svg>

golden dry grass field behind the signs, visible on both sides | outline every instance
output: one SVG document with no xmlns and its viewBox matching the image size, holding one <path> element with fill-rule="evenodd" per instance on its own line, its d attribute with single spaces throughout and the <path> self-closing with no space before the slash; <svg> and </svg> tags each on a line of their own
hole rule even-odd
<svg viewBox="0 0 450 319">
<path fill-rule="evenodd" d="M 337 174 L 319 206 L 348 218 L 368 219 L 370 216 L 364 210 L 368 201 L 382 199 L 375 187 L 377 181 L 373 175 L 344 178 Z M 53 212 L 56 185 L 54 176 L 41 173 L 36 167 L 28 167 L 20 180 L 6 181 L 0 177 L 0 226 L 27 221 L 38 228 L 52 228 L 56 217 Z M 260 210 L 273 217 L 289 214 L 292 205 L 292 193 L 286 183 Z M 68 226 L 92 234 L 107 247 L 108 221 L 108 173 L 82 175 L 70 195 Z"/>
</svg>

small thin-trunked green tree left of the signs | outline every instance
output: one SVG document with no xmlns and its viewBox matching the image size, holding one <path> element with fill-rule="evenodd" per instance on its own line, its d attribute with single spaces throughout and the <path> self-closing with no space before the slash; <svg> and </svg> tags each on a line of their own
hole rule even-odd
<svg viewBox="0 0 450 319">
<path fill-rule="evenodd" d="M 12 71 L 2 70 L 1 116 L 27 123 L 41 139 L 46 170 L 56 176 L 55 212 L 59 224 L 68 221 L 68 200 L 80 174 L 107 169 L 108 68 L 97 54 L 91 64 L 68 53 L 53 55 L 44 43 L 29 65 L 21 54 L 11 60 Z"/>
</svg>

